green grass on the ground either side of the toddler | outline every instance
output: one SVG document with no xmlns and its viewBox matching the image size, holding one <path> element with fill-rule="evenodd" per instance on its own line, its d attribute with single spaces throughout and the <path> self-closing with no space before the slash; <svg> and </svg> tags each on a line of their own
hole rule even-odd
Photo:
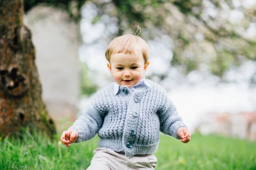
<svg viewBox="0 0 256 170">
<path fill-rule="evenodd" d="M 86 170 L 98 137 L 65 147 L 59 140 L 0 141 L 0 170 Z M 156 170 L 256 170 L 256 142 L 193 134 L 188 144 L 161 134 Z"/>
</svg>

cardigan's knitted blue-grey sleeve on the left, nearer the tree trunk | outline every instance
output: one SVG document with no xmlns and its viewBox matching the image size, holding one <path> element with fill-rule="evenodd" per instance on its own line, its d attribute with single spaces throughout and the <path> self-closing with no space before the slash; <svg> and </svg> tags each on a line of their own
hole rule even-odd
<svg viewBox="0 0 256 170">
<path fill-rule="evenodd" d="M 82 115 L 77 119 L 69 129 L 75 129 L 78 132 L 78 139 L 75 143 L 92 139 L 99 129 L 105 117 L 106 109 L 100 102 L 99 93 L 96 93 L 87 105 Z"/>
</svg>

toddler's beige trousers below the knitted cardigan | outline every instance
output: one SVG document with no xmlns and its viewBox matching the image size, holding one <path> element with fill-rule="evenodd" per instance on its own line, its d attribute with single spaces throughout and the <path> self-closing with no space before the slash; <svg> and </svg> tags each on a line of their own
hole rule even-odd
<svg viewBox="0 0 256 170">
<path fill-rule="evenodd" d="M 93 153 L 87 170 L 154 170 L 157 166 L 157 157 L 153 154 L 127 157 L 106 147 L 97 148 Z"/>
</svg>

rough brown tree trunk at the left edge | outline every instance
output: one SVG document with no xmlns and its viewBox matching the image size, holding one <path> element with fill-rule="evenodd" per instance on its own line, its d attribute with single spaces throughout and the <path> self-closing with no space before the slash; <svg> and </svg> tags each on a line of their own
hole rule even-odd
<svg viewBox="0 0 256 170">
<path fill-rule="evenodd" d="M 41 97 L 31 33 L 23 25 L 23 0 L 0 0 L 0 136 L 23 127 L 51 138 L 55 125 Z"/>
</svg>

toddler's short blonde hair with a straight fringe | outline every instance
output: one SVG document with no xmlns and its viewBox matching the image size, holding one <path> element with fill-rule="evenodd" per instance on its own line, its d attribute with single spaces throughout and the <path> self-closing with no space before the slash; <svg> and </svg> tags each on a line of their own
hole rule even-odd
<svg viewBox="0 0 256 170">
<path fill-rule="evenodd" d="M 148 62 L 149 53 L 148 45 L 142 38 L 133 34 L 125 34 L 114 38 L 108 45 L 105 52 L 106 59 L 108 62 L 110 62 L 111 55 L 116 53 L 132 54 L 136 45 L 140 45 L 140 49 L 146 64 Z"/>
</svg>

